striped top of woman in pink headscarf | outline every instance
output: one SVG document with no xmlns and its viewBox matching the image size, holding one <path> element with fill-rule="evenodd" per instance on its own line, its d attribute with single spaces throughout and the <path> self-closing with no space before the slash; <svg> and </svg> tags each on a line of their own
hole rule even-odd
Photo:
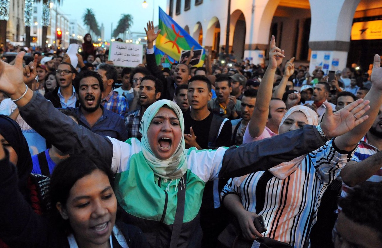
<svg viewBox="0 0 382 248">
<path fill-rule="evenodd" d="M 342 151 L 344 153 L 344 151 Z M 230 193 L 240 196 L 244 209 L 263 214 L 267 222 L 265 237 L 304 246 L 312 225 L 316 223 L 320 199 L 351 159 L 353 152 L 342 154 L 333 140 L 306 155 L 295 172 L 284 180 L 268 170 L 248 174 L 240 186 L 228 180 L 221 197 Z"/>
</svg>

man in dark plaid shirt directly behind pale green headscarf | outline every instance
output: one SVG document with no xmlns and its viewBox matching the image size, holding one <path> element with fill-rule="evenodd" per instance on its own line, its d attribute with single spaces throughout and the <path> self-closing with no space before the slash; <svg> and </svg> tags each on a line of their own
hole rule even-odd
<svg viewBox="0 0 382 248">
<path fill-rule="evenodd" d="M 154 76 L 148 75 L 142 78 L 139 85 L 139 105 L 137 110 L 130 111 L 125 115 L 125 126 L 129 133 L 129 138 L 135 137 L 141 140 L 142 134 L 139 132 L 139 124 L 146 109 L 160 98 L 162 81 Z"/>
</svg>

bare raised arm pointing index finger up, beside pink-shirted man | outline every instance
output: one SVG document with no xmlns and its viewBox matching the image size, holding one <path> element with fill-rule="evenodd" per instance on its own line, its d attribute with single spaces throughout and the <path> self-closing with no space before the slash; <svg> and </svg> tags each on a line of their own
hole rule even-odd
<svg viewBox="0 0 382 248">
<path fill-rule="evenodd" d="M 281 64 L 283 57 L 284 50 L 276 47 L 275 36 L 272 35 L 269 44 L 269 65 L 261 80 L 255 108 L 248 123 L 248 131 L 253 138 L 258 137 L 264 131 L 265 124 L 267 123 L 269 103 L 272 98 L 273 80 L 277 66 Z"/>
</svg>

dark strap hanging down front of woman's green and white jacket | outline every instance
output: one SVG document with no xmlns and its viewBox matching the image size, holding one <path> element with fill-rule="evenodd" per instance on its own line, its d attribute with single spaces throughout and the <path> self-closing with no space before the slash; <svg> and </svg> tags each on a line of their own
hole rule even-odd
<svg viewBox="0 0 382 248">
<path fill-rule="evenodd" d="M 181 178 L 180 182 L 178 183 L 178 192 L 176 193 L 178 196 L 178 202 L 176 203 L 176 212 L 175 212 L 174 225 L 172 227 L 170 248 L 176 248 L 178 246 L 178 241 L 179 241 L 180 233 L 182 230 L 183 216 L 185 214 L 187 172 L 185 173 L 185 175 L 183 175 L 183 182 L 184 182 L 184 188 L 181 189 L 182 187 L 181 186 L 182 178 Z"/>
</svg>

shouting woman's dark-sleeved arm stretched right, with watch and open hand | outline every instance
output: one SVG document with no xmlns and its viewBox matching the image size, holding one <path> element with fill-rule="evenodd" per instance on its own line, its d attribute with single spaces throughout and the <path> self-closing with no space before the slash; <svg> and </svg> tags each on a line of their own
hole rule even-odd
<svg viewBox="0 0 382 248">
<path fill-rule="evenodd" d="M 240 177 L 251 172 L 268 170 L 282 162 L 308 154 L 320 148 L 328 138 L 337 137 L 350 131 L 367 120 L 367 116 L 355 119 L 355 115 L 363 115 L 369 109 L 368 101 L 358 99 L 345 108 L 328 113 L 328 109 L 320 123 L 319 132 L 316 126 L 304 125 L 298 130 L 289 131 L 272 138 L 232 146 L 225 151 L 219 177 Z M 335 142 L 337 145 L 337 141 Z"/>
</svg>

